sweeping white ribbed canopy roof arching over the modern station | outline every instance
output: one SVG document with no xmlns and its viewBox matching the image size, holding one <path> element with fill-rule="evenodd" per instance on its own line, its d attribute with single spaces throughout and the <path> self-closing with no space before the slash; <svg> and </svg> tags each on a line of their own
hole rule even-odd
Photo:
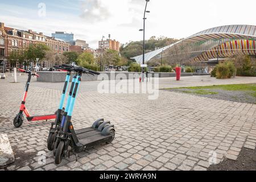
<svg viewBox="0 0 256 182">
<path fill-rule="evenodd" d="M 169 46 L 157 49 L 155 51 L 151 51 L 145 54 L 145 62 L 151 60 L 159 53 L 174 47 L 180 43 L 183 44 L 191 44 L 196 42 L 208 41 L 208 40 L 216 40 L 216 39 L 255 39 L 256 38 L 256 26 L 250 25 L 229 25 L 229 26 L 220 26 L 209 28 L 207 30 L 201 31 L 197 34 L 189 36 L 179 42 L 174 44 L 170 44 Z M 135 59 L 137 63 L 142 64 L 143 55 L 131 57 L 131 59 Z"/>
</svg>

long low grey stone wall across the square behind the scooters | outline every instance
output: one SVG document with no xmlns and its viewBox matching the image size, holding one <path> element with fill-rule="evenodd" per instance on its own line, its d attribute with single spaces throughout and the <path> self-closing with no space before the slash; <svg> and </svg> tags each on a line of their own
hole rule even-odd
<svg viewBox="0 0 256 182">
<path fill-rule="evenodd" d="M 158 74 L 159 78 L 166 77 L 176 77 L 176 73 L 150 73 L 152 77 L 155 77 Z M 65 72 L 38 72 L 39 77 L 37 81 L 39 82 L 64 82 L 67 73 Z M 73 76 L 73 74 L 72 74 Z M 193 73 L 181 73 L 181 76 L 193 76 Z M 119 80 L 120 77 L 123 79 L 133 79 L 139 78 L 140 73 L 135 72 L 101 72 L 100 76 L 92 75 L 82 75 L 82 81 L 97 81 L 97 80 Z M 72 81 L 72 79 L 71 79 Z"/>
</svg>

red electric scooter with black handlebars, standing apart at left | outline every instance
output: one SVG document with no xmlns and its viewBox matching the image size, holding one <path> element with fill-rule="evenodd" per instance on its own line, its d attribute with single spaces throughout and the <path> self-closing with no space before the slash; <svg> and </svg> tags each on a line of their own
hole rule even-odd
<svg viewBox="0 0 256 182">
<path fill-rule="evenodd" d="M 16 117 L 14 118 L 14 121 L 13 121 L 14 126 L 17 128 L 22 126 L 23 121 L 24 121 L 23 112 L 26 114 L 27 121 L 42 121 L 42 120 L 47 121 L 48 119 L 55 119 L 56 113 L 51 114 L 51 115 L 39 115 L 39 116 L 31 116 L 30 113 L 28 113 L 25 103 L 26 103 L 28 88 L 30 86 L 31 77 L 32 76 L 39 77 L 39 75 L 36 73 L 32 73 L 31 71 L 26 71 L 24 69 L 19 69 L 19 71 L 23 72 L 23 73 L 28 73 L 28 78 L 27 78 L 27 83 L 26 83 L 26 88 L 25 88 L 25 93 L 23 96 L 22 104 L 20 105 L 20 108 L 19 108 L 19 114 L 16 115 Z"/>
</svg>

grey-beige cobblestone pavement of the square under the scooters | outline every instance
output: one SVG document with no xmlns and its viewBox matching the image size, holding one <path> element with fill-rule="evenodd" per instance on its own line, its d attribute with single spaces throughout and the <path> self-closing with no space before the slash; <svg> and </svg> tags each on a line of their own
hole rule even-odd
<svg viewBox="0 0 256 182">
<path fill-rule="evenodd" d="M 15 129 L 26 76 L 20 83 L 0 80 L 0 133 L 9 135 L 16 162 L 0 170 L 206 170 L 209 154 L 236 160 L 242 146 L 255 148 L 256 105 L 159 91 L 158 100 L 143 94 L 99 94 L 82 82 L 73 114 L 75 129 L 98 118 L 115 125 L 112 144 L 94 147 L 54 164 L 46 140 L 50 122 L 24 122 Z M 35 78 L 34 78 L 35 79 Z M 31 114 L 56 110 L 63 83 L 31 82 Z M 170 86 L 169 86 L 170 87 Z M 88 89 L 86 89 L 88 88 Z M 39 162 L 46 152 L 46 163 Z"/>
</svg>

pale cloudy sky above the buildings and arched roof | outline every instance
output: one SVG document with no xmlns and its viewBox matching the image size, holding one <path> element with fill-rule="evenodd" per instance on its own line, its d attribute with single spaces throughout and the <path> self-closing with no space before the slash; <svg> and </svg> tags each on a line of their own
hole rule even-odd
<svg viewBox="0 0 256 182">
<path fill-rule="evenodd" d="M 102 35 L 127 43 L 142 40 L 144 0 L 0 0 L 0 22 L 50 36 L 73 32 L 97 48 Z M 46 11 L 44 12 L 44 6 Z M 228 24 L 256 25 L 255 0 L 150 0 L 146 38 L 186 38 L 207 28 Z"/>
</svg>

